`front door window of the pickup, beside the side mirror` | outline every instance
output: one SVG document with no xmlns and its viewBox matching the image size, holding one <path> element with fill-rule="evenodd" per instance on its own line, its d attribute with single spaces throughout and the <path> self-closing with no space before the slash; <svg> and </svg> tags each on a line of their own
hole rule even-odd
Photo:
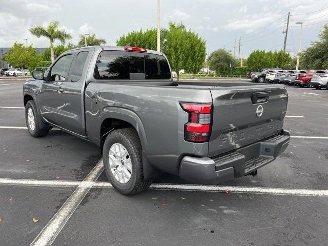
<svg viewBox="0 0 328 246">
<path fill-rule="evenodd" d="M 57 60 L 56 64 L 51 68 L 48 81 L 66 80 L 71 61 L 72 54 L 65 55 Z"/>
</svg>

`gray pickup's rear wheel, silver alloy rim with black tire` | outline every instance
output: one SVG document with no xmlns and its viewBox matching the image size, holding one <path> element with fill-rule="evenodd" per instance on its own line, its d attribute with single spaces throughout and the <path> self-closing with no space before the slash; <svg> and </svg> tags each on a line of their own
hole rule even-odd
<svg viewBox="0 0 328 246">
<path fill-rule="evenodd" d="M 121 194 L 134 195 L 147 190 L 151 181 L 144 179 L 141 144 L 132 128 L 111 132 L 104 143 L 103 160 L 106 175 Z"/>
</svg>

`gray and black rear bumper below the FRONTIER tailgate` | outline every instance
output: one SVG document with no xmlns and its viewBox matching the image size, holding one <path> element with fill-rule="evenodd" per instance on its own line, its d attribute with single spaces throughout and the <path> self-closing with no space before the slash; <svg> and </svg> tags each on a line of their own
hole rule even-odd
<svg viewBox="0 0 328 246">
<path fill-rule="evenodd" d="M 289 145 L 290 133 L 263 139 L 233 152 L 214 157 L 183 157 L 179 176 L 193 183 L 217 183 L 250 174 L 277 158 Z"/>
</svg>

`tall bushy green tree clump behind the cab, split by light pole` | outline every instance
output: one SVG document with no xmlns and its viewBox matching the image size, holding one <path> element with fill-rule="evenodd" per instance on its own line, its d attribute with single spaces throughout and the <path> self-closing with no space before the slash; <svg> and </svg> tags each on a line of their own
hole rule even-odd
<svg viewBox="0 0 328 246">
<path fill-rule="evenodd" d="M 150 50 L 157 50 L 157 32 L 155 28 L 146 31 L 132 31 L 122 35 L 116 41 L 118 46 L 134 46 Z M 170 23 L 169 29 L 162 29 L 160 36 L 161 51 L 170 61 L 173 71 L 184 69 L 186 72 L 197 73 L 206 57 L 206 42 L 191 30 L 187 30 L 182 23 Z"/>
</svg>

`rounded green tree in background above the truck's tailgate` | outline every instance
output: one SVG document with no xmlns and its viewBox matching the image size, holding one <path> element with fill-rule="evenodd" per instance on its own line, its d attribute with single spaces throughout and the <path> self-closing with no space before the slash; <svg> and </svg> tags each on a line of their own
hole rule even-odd
<svg viewBox="0 0 328 246">
<path fill-rule="evenodd" d="M 237 66 L 237 60 L 229 51 L 224 49 L 213 51 L 209 56 L 208 62 L 210 69 L 216 73 L 221 73 L 227 67 Z"/>
</svg>

